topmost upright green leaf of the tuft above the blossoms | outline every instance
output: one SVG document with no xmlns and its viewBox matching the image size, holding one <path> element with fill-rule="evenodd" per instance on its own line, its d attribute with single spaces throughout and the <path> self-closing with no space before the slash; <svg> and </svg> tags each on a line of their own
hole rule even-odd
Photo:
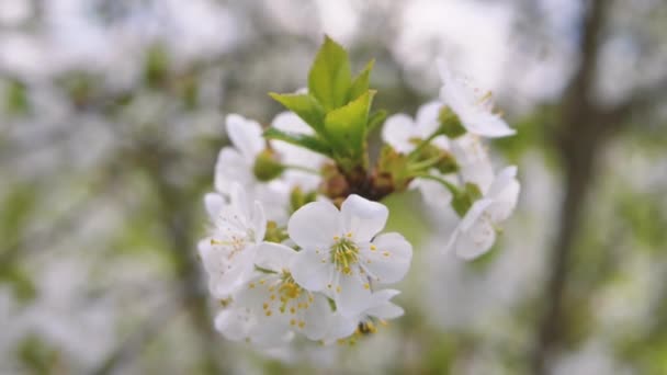
<svg viewBox="0 0 667 375">
<path fill-rule="evenodd" d="M 308 73 L 308 92 L 328 112 L 347 102 L 351 81 L 348 53 L 341 45 L 325 36 Z"/>
</svg>

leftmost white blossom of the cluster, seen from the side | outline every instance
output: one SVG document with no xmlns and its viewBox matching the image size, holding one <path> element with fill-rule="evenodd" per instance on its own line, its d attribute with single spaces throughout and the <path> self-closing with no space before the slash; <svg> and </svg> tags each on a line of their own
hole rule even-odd
<svg viewBox="0 0 667 375">
<path fill-rule="evenodd" d="M 229 203 L 216 201 L 213 230 L 199 243 L 208 273 L 208 287 L 217 298 L 226 298 L 251 275 L 258 246 L 267 230 L 262 205 L 250 203 L 239 184 L 231 186 Z M 213 208 L 211 208 L 213 209 Z"/>
</svg>

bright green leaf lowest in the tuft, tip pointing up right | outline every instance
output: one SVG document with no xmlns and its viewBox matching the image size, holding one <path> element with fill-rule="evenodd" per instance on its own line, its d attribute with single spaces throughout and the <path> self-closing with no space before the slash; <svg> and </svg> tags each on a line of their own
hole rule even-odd
<svg viewBox="0 0 667 375">
<path fill-rule="evenodd" d="M 339 156 L 358 158 L 364 151 L 369 111 L 375 91 L 369 90 L 347 105 L 327 113 L 325 129 Z"/>
</svg>

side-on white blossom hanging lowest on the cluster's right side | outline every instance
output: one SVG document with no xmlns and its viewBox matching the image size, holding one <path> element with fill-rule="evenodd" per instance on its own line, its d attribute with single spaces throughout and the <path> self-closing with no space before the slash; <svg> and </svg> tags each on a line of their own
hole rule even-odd
<svg viewBox="0 0 667 375">
<path fill-rule="evenodd" d="M 496 241 L 497 225 L 506 220 L 517 206 L 520 185 L 517 167 L 502 169 L 488 192 L 477 200 L 452 234 L 446 250 L 463 259 L 474 259 L 490 249 Z"/>
</svg>

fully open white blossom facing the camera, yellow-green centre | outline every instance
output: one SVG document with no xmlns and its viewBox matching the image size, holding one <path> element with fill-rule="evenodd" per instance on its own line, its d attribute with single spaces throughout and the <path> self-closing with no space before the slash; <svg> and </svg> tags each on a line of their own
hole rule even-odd
<svg viewBox="0 0 667 375">
<path fill-rule="evenodd" d="M 360 314 L 371 283 L 400 281 L 412 257 L 410 243 L 399 234 L 377 235 L 387 216 L 383 204 L 355 194 L 340 211 L 330 202 L 296 211 L 287 225 L 290 238 L 302 248 L 292 265 L 294 280 L 308 291 L 326 293 L 340 314 Z"/>
</svg>

